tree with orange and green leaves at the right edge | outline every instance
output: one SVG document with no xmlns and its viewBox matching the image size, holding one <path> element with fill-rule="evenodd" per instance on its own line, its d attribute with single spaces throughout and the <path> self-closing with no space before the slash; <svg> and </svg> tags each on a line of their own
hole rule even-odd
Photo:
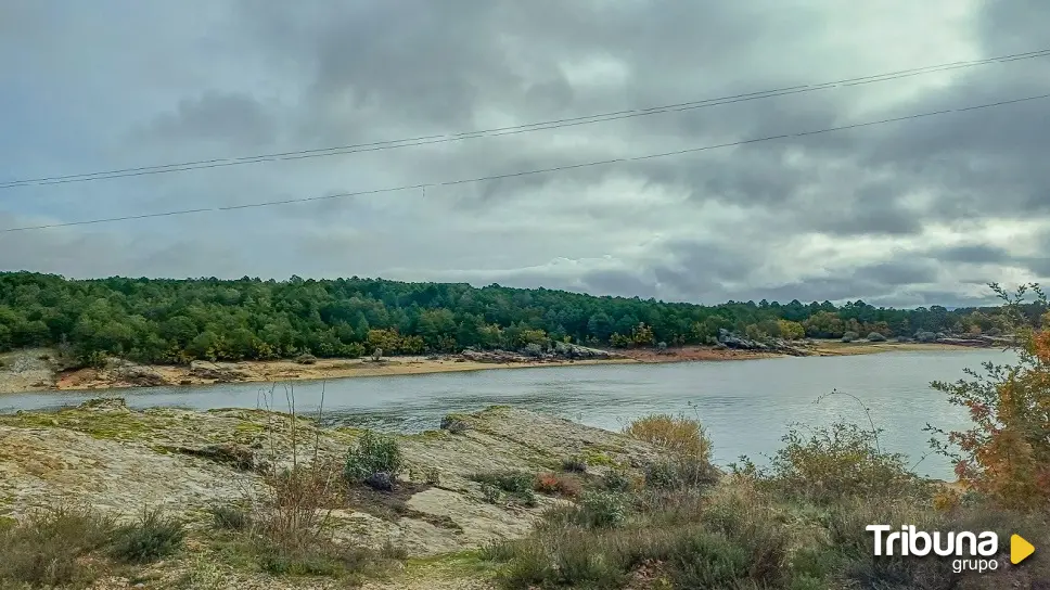
<svg viewBox="0 0 1050 590">
<path fill-rule="evenodd" d="M 1047 296 L 1035 283 L 1015 293 L 989 286 L 1006 304 L 1019 361 L 987 362 L 984 374 L 968 369 L 972 381 L 934 382 L 951 403 L 970 411 L 973 426 L 926 429 L 942 435 L 931 445 L 955 460 L 961 484 L 1006 508 L 1043 509 L 1050 505 L 1050 322 L 1029 328 L 1023 306 L 1032 292 L 1035 305 L 1047 309 Z"/>
</svg>

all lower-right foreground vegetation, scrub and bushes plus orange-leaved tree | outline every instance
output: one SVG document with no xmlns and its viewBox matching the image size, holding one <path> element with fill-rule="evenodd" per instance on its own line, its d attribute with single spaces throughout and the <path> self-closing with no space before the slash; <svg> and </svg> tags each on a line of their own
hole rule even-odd
<svg viewBox="0 0 1050 590">
<path fill-rule="evenodd" d="M 641 487 L 611 472 L 605 491 L 585 489 L 528 537 L 486 547 L 483 556 L 499 564 L 508 589 L 1046 588 L 1050 559 L 1037 553 L 1011 567 L 1008 539 L 1017 533 L 1050 546 L 1050 331 L 1025 328 L 1024 288 L 994 287 L 1022 336 L 1020 363 L 935 384 L 973 420 L 966 431 L 931 427 L 943 435 L 935 450 L 957 461 L 961 489 L 918 477 L 904 457 L 881 448 L 873 424 L 795 426 L 766 464 L 742 458 L 722 475 L 709 464 L 699 421 L 652 415 L 625 428 L 667 451 L 644 467 Z M 1042 293 L 1029 288 L 1046 309 Z M 966 572 L 952 559 L 875 557 L 869 524 L 995 531 L 996 570 Z"/>
</svg>

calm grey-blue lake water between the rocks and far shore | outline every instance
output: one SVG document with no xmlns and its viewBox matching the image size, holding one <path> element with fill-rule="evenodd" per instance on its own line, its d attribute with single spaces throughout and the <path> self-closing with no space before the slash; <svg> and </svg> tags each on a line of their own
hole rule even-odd
<svg viewBox="0 0 1050 590">
<path fill-rule="evenodd" d="M 651 412 L 697 415 L 707 427 L 720 464 L 780 447 L 791 423 L 825 425 L 837 420 L 867 426 L 863 408 L 845 396 L 815 400 L 832 389 L 853 394 L 884 428 L 881 444 L 920 461 L 929 451 L 927 423 L 943 428 L 968 424 L 963 410 L 949 406 L 930 382 L 964 377 L 963 369 L 982 362 L 1012 362 L 999 350 L 901 351 L 853 357 L 802 357 L 725 362 L 606 364 L 490 370 L 430 375 L 353 377 L 324 384 L 324 420 L 335 424 L 418 432 L 437 428 L 443 415 L 511 403 L 584 424 L 618 429 Z M 319 382 L 295 383 L 300 413 L 317 412 Z M 123 396 L 135 408 L 267 407 L 262 384 L 155 387 L 100 392 L 63 392 L 0 396 L 0 412 L 57 408 L 100 395 Z M 286 410 L 284 388 L 269 407 Z M 936 454 L 917 471 L 952 478 L 948 462 Z"/>
</svg>

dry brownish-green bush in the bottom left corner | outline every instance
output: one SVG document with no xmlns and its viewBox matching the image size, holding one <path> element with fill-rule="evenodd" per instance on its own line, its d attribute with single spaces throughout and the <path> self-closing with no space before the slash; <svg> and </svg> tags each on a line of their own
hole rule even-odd
<svg viewBox="0 0 1050 590">
<path fill-rule="evenodd" d="M 82 557 L 100 549 L 114 523 L 86 508 L 59 506 L 0 524 L 0 588 L 86 586 L 97 572 Z"/>
</svg>

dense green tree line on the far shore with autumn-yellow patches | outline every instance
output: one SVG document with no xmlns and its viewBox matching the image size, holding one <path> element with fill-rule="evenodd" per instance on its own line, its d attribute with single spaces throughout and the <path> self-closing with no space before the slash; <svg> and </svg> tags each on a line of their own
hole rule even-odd
<svg viewBox="0 0 1050 590">
<path fill-rule="evenodd" d="M 1041 309 L 1033 309 L 1038 318 Z M 585 345 L 713 344 L 719 329 L 751 337 L 995 333 L 997 308 L 873 307 L 863 302 L 716 306 L 597 297 L 547 288 L 380 279 L 69 280 L 0 273 L 0 350 L 60 346 L 79 359 L 148 362 L 451 352 Z"/>
</svg>

